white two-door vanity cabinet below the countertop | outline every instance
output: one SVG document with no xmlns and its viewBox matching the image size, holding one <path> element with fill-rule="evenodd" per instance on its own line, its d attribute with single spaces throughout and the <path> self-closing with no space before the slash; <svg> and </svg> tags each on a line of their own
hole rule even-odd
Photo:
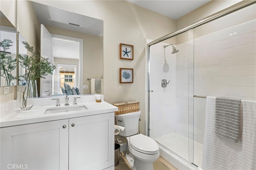
<svg viewBox="0 0 256 170">
<path fill-rule="evenodd" d="M 114 113 L 0 128 L 1 170 L 114 169 Z"/>
</svg>

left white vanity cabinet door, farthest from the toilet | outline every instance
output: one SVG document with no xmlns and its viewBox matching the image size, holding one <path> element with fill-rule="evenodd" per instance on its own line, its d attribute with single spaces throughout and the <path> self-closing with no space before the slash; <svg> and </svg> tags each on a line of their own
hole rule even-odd
<svg viewBox="0 0 256 170">
<path fill-rule="evenodd" d="M 68 169 L 68 119 L 5 127 L 0 132 L 1 170 Z"/>
</svg>

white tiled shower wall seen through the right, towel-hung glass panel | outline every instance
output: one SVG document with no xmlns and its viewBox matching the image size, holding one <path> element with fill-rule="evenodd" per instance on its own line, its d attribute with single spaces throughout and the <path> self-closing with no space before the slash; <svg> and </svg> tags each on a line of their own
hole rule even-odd
<svg viewBox="0 0 256 170">
<path fill-rule="evenodd" d="M 256 20 L 196 38 L 194 46 L 195 95 L 256 101 Z M 205 105 L 194 98 L 194 127 L 202 130 Z"/>
</svg>

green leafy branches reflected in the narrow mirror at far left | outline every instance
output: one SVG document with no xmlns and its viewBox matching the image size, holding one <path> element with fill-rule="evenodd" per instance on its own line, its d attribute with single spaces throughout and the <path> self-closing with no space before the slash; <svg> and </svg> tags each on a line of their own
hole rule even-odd
<svg viewBox="0 0 256 170">
<path fill-rule="evenodd" d="M 16 79 L 12 75 L 12 71 L 16 68 L 16 58 L 12 59 L 12 56 L 8 55 L 5 51 L 10 49 L 13 43 L 11 40 L 4 39 L 0 42 L 0 47 L 2 47 L 3 51 L 1 51 L 0 58 L 0 75 L 4 77 L 7 82 L 7 86 L 11 85 L 11 81 Z"/>
</svg>

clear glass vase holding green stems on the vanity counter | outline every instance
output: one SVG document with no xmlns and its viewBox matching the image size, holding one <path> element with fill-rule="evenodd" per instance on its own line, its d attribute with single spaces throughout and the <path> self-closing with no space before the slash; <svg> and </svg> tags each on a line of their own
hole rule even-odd
<svg viewBox="0 0 256 170">
<path fill-rule="evenodd" d="M 27 81 L 21 86 L 20 109 L 22 110 L 30 110 L 34 105 L 32 82 Z"/>
</svg>

